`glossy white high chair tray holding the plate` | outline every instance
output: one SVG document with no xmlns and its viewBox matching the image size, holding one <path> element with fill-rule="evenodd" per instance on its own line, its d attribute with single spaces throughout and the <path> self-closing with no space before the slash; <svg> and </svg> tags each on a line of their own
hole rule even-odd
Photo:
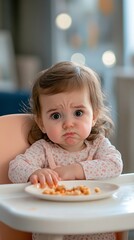
<svg viewBox="0 0 134 240">
<path fill-rule="evenodd" d="M 86 202 L 46 201 L 26 193 L 27 184 L 0 185 L 0 220 L 18 230 L 44 234 L 134 229 L 134 174 L 103 182 L 120 188 L 112 197 Z"/>
</svg>

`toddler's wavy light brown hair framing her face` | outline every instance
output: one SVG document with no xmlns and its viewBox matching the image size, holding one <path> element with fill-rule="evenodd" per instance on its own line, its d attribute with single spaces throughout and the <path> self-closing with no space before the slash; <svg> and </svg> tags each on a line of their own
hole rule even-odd
<svg viewBox="0 0 134 240">
<path fill-rule="evenodd" d="M 57 94 L 86 88 L 89 90 L 89 97 L 93 112 L 98 114 L 95 126 L 92 127 L 88 140 L 94 140 L 98 134 L 109 136 L 113 128 L 110 111 L 105 106 L 105 96 L 101 90 L 101 83 L 98 75 L 90 68 L 73 62 L 59 62 L 50 68 L 40 72 L 34 82 L 30 99 L 31 112 L 41 117 L 41 106 L 39 97 L 41 94 Z M 49 140 L 47 135 L 42 133 L 34 123 L 30 134 L 29 142 L 44 138 Z"/>
</svg>

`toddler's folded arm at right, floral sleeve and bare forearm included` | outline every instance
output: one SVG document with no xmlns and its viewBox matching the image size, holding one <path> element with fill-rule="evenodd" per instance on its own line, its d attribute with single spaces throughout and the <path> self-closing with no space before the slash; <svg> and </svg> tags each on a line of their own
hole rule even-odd
<svg viewBox="0 0 134 240">
<path fill-rule="evenodd" d="M 105 179 L 119 176 L 122 168 L 120 152 L 107 138 L 101 138 L 92 157 L 79 163 L 57 167 L 55 171 L 62 180 Z"/>
</svg>

